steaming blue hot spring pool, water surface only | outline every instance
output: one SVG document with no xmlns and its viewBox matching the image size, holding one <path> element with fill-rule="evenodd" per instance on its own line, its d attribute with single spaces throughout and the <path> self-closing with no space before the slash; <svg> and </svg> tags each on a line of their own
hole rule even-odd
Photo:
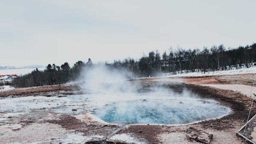
<svg viewBox="0 0 256 144">
<path fill-rule="evenodd" d="M 229 112 L 214 100 L 138 99 L 117 101 L 95 109 L 93 114 L 110 123 L 187 124 Z"/>
</svg>

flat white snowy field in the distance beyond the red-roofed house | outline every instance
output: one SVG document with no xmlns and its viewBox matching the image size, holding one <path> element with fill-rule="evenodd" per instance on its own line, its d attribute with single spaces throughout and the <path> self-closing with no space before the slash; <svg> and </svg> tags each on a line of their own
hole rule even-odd
<svg viewBox="0 0 256 144">
<path fill-rule="evenodd" d="M 5 74 L 17 74 L 17 75 L 24 75 L 31 73 L 33 70 L 36 68 L 21 68 L 21 69 L 0 69 L 0 75 L 5 75 Z M 44 70 L 45 67 L 40 67 L 38 70 Z"/>
</svg>

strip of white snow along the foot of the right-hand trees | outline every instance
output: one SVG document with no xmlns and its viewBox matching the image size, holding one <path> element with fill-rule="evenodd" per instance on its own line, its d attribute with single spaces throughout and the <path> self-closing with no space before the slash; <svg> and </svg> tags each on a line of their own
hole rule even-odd
<svg viewBox="0 0 256 144">
<path fill-rule="evenodd" d="M 211 71 L 211 72 L 206 72 L 205 74 L 202 72 L 194 72 L 194 73 L 187 73 L 187 74 L 184 73 L 184 74 L 170 75 L 168 77 L 216 76 L 216 75 L 226 75 L 226 74 L 249 74 L 249 73 L 256 73 L 256 67 L 243 68 L 238 70 Z"/>
</svg>

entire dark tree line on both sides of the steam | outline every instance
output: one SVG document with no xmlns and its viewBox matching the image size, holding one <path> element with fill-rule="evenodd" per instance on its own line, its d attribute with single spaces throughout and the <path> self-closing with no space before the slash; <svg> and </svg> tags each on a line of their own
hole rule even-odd
<svg viewBox="0 0 256 144">
<path fill-rule="evenodd" d="M 226 48 L 224 45 L 203 47 L 202 50 L 170 48 L 168 52 L 162 54 L 152 51 L 138 60 L 126 58 L 112 63 L 105 62 L 104 65 L 109 69 L 119 70 L 127 78 L 138 78 L 248 68 L 255 62 L 256 43 L 237 48 Z M 11 85 L 20 88 L 63 84 L 78 79 L 82 71 L 94 65 L 97 64 L 93 64 L 91 59 L 86 63 L 77 61 L 73 67 L 67 62 L 61 66 L 49 64 L 43 71 L 36 69 L 30 74 L 14 79 Z"/>
</svg>

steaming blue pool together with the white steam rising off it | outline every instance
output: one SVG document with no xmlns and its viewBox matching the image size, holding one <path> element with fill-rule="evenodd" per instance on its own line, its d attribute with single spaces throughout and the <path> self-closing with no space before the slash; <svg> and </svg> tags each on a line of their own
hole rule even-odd
<svg viewBox="0 0 256 144">
<path fill-rule="evenodd" d="M 124 73 L 96 66 L 85 74 L 83 88 L 94 101 L 107 102 L 94 114 L 107 122 L 184 124 L 230 112 L 217 101 L 202 98 L 181 85 L 165 88 L 166 81 L 143 85 L 126 80 Z M 141 88 L 143 92 L 138 92 Z"/>
</svg>

